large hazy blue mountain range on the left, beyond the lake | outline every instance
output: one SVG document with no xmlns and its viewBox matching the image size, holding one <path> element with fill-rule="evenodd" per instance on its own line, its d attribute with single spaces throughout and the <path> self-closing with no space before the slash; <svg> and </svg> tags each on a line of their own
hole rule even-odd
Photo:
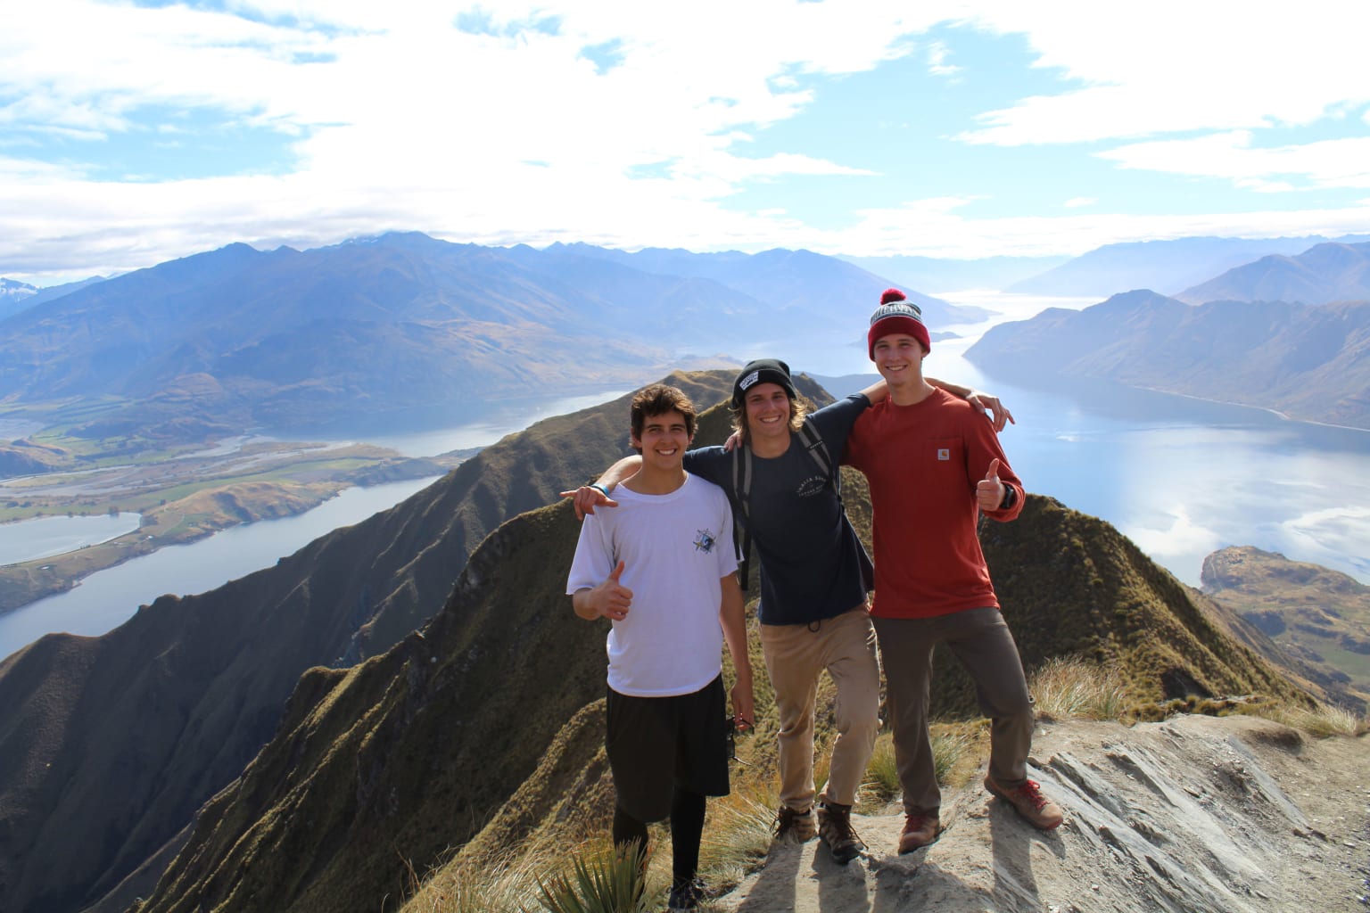
<svg viewBox="0 0 1370 913">
<path fill-rule="evenodd" d="M 90 437 L 308 427 L 637 385 L 689 353 L 726 364 L 715 353 L 756 341 L 855 341 L 882 287 L 789 250 L 667 261 L 418 233 L 306 252 L 236 244 L 0 323 L 0 387 L 21 402 L 99 398 L 78 426 Z"/>
</svg>

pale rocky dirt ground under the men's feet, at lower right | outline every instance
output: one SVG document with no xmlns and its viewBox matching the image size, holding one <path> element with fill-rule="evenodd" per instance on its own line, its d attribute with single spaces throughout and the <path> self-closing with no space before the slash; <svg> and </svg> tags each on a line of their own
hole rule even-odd
<svg viewBox="0 0 1370 913">
<path fill-rule="evenodd" d="M 1370 910 L 1370 739 L 1254 717 L 1044 724 L 1030 776 L 1066 809 L 1038 832 L 974 787 L 943 835 L 895 854 L 901 814 L 856 816 L 870 851 L 777 846 L 715 908 L 737 913 Z M 893 809 L 897 812 L 897 809 Z"/>
</svg>

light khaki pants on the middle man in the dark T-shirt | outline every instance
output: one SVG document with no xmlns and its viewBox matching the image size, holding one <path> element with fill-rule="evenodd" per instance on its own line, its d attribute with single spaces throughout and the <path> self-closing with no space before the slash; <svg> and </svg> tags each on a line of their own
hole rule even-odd
<svg viewBox="0 0 1370 913">
<path fill-rule="evenodd" d="M 821 801 L 855 803 L 880 730 L 880 660 L 866 606 L 814 626 L 760 627 L 780 712 L 781 805 L 814 805 L 814 699 L 823 669 L 837 686 L 837 741 Z"/>
</svg>

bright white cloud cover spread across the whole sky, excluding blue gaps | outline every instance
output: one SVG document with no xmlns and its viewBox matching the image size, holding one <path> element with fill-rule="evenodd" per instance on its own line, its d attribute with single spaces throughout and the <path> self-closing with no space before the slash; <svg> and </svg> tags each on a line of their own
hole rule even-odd
<svg viewBox="0 0 1370 913">
<path fill-rule="evenodd" d="M 973 218 L 938 196 L 806 224 L 797 207 L 736 212 L 756 182 L 866 175 L 795 146 L 758 152 L 769 126 L 810 110 L 822 79 L 922 48 L 948 62 L 955 30 L 1021 33 L 1067 79 L 1054 97 L 988 112 L 966 136 L 1015 146 L 1100 138 L 1122 168 L 1230 177 L 1243 189 L 1363 188 L 1363 140 L 1260 149 L 1262 127 L 1362 115 L 1370 14 L 1302 4 L 915 4 L 600 0 L 481 4 L 227 0 L 140 8 L 16 3 L 0 30 L 0 270 L 32 278 L 149 266 L 230 241 L 312 246 L 385 229 L 486 244 L 584 240 L 695 249 L 1081 253 L 1184 234 L 1343 234 L 1370 201 L 1307 212 Z M 474 22 L 484 29 L 459 29 Z M 484 19 L 481 19 L 484 16 Z M 1182 23 L 1182 27 L 1181 27 Z M 1317 34 L 1317 40 L 1310 36 Z M 612 48 L 603 68 L 589 48 Z M 962 60 L 964 57 L 956 57 Z M 119 183 L 92 175 L 104 140 L 175 136 L 181 112 L 275 131 L 282 174 Z M 59 138 L 59 153 L 42 152 Z M 126 166 L 142 170 L 137 162 Z M 244 168 L 238 168 L 244 170 Z M 880 179 L 871 177 L 871 179 Z M 1092 205 L 1092 204 L 1091 204 Z M 981 209 L 981 207 L 975 207 Z"/>
</svg>

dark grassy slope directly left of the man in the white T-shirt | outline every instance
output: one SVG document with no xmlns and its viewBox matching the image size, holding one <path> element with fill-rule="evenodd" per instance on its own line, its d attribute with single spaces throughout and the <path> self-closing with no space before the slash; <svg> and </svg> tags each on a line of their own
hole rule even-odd
<svg viewBox="0 0 1370 913">
<path fill-rule="evenodd" d="M 140 909 L 379 909 L 407 860 L 469 839 L 603 693 L 603 631 L 564 595 L 575 531 L 566 504 L 511 520 L 422 634 L 307 672 Z"/>
</svg>

